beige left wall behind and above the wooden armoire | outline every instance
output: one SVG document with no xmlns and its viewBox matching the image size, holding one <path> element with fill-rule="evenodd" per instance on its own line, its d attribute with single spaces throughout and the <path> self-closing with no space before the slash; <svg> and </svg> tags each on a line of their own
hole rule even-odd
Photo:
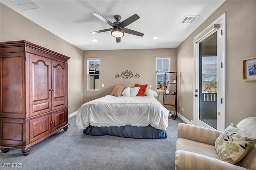
<svg viewBox="0 0 256 170">
<path fill-rule="evenodd" d="M 68 60 L 68 113 L 77 111 L 82 104 L 82 50 L 38 26 L 4 4 L 0 4 L 0 8 L 1 42 L 26 40 L 71 57 Z"/>
</svg>

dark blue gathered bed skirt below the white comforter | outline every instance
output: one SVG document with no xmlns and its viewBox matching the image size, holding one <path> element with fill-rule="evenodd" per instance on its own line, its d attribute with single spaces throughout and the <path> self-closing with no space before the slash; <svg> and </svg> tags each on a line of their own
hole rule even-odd
<svg viewBox="0 0 256 170">
<path fill-rule="evenodd" d="M 159 130 L 148 125 L 147 127 L 134 127 L 126 125 L 123 127 L 92 127 L 89 125 L 83 130 L 84 134 L 94 136 L 120 136 L 125 138 L 137 138 L 137 139 L 163 139 L 167 138 L 166 130 Z"/>
</svg>

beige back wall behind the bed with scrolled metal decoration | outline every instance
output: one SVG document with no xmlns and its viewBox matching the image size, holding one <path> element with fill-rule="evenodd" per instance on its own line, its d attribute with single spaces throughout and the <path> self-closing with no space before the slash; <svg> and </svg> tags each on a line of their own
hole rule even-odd
<svg viewBox="0 0 256 170">
<path fill-rule="evenodd" d="M 137 84 L 152 85 L 152 90 L 156 90 L 156 57 L 170 56 L 171 71 L 177 70 L 176 49 L 128 49 L 128 50 L 100 50 L 84 51 L 84 102 L 88 102 L 98 97 L 103 97 L 111 93 L 115 85 L 125 85 L 134 87 Z M 100 57 L 100 91 L 86 90 L 87 58 Z M 123 71 L 138 73 L 139 78 L 132 77 L 124 79 L 115 78 L 115 75 Z M 104 87 L 101 85 L 104 84 Z M 158 101 L 162 103 L 162 93 L 158 94 Z"/>
</svg>

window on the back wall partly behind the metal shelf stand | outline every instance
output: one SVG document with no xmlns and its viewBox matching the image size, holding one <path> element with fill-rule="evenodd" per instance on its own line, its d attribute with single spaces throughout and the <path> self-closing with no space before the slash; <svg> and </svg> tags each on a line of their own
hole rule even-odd
<svg viewBox="0 0 256 170">
<path fill-rule="evenodd" d="M 164 89 L 165 72 L 170 72 L 170 57 L 156 57 L 156 91 L 158 92 Z"/>
</svg>

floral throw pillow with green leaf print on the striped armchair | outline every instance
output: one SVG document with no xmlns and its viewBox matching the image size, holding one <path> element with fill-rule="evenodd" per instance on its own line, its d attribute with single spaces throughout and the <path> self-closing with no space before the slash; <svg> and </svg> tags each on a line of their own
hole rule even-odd
<svg viewBox="0 0 256 170">
<path fill-rule="evenodd" d="M 216 139 L 215 149 L 220 160 L 235 164 L 250 152 L 256 139 L 240 131 L 233 123 Z"/>
</svg>

